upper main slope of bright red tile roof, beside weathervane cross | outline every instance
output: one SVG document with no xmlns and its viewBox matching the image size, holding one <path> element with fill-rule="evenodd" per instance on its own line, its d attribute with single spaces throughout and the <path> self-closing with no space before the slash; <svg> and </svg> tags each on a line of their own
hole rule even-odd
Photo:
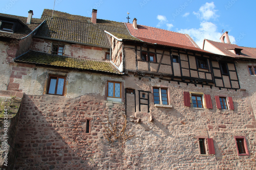
<svg viewBox="0 0 256 170">
<path fill-rule="evenodd" d="M 157 40 L 165 43 L 173 43 L 189 47 L 198 47 L 196 43 L 190 40 L 186 34 L 163 30 L 144 25 L 137 25 L 137 30 L 130 23 L 125 23 L 131 35 L 135 37 L 147 38 L 148 40 Z"/>
</svg>

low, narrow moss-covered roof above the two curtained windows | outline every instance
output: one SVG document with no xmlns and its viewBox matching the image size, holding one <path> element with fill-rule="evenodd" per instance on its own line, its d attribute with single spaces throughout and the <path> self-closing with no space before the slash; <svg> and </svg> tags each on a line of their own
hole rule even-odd
<svg viewBox="0 0 256 170">
<path fill-rule="evenodd" d="M 122 74 L 111 62 L 60 56 L 33 50 L 28 51 L 28 53 L 16 58 L 14 61 L 50 67 L 65 67 Z"/>
</svg>

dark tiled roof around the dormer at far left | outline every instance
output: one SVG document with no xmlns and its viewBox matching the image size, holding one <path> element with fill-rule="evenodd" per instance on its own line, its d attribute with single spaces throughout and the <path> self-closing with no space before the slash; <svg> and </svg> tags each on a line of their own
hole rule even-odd
<svg viewBox="0 0 256 170">
<path fill-rule="evenodd" d="M 8 15 L 8 14 L 1 14 L 1 16 L 6 17 L 12 17 L 14 19 L 19 19 L 22 21 L 26 26 L 23 26 L 22 28 L 18 29 L 14 33 L 9 32 L 0 32 L 0 37 L 7 37 L 7 38 L 22 38 L 30 34 L 32 31 L 34 31 L 44 20 L 38 19 L 38 18 L 32 18 L 31 23 L 27 24 L 27 17 L 21 17 L 16 15 Z"/>
</svg>

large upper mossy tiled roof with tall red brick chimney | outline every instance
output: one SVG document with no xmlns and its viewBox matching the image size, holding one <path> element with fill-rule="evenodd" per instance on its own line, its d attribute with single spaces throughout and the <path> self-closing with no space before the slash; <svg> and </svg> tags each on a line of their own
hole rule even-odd
<svg viewBox="0 0 256 170">
<path fill-rule="evenodd" d="M 60 11 L 54 11 L 52 17 L 50 9 L 44 9 L 41 19 L 46 20 L 36 34 L 41 37 L 110 47 L 105 30 L 130 35 L 122 22 L 97 19 L 97 23 L 93 24 L 90 17 Z"/>
</svg>

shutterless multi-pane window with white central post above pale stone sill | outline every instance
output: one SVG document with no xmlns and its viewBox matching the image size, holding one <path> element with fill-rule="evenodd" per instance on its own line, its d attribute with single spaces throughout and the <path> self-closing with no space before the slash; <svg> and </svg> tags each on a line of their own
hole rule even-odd
<svg viewBox="0 0 256 170">
<path fill-rule="evenodd" d="M 168 104 L 167 88 L 153 88 L 153 95 L 154 104 Z"/>
</svg>

